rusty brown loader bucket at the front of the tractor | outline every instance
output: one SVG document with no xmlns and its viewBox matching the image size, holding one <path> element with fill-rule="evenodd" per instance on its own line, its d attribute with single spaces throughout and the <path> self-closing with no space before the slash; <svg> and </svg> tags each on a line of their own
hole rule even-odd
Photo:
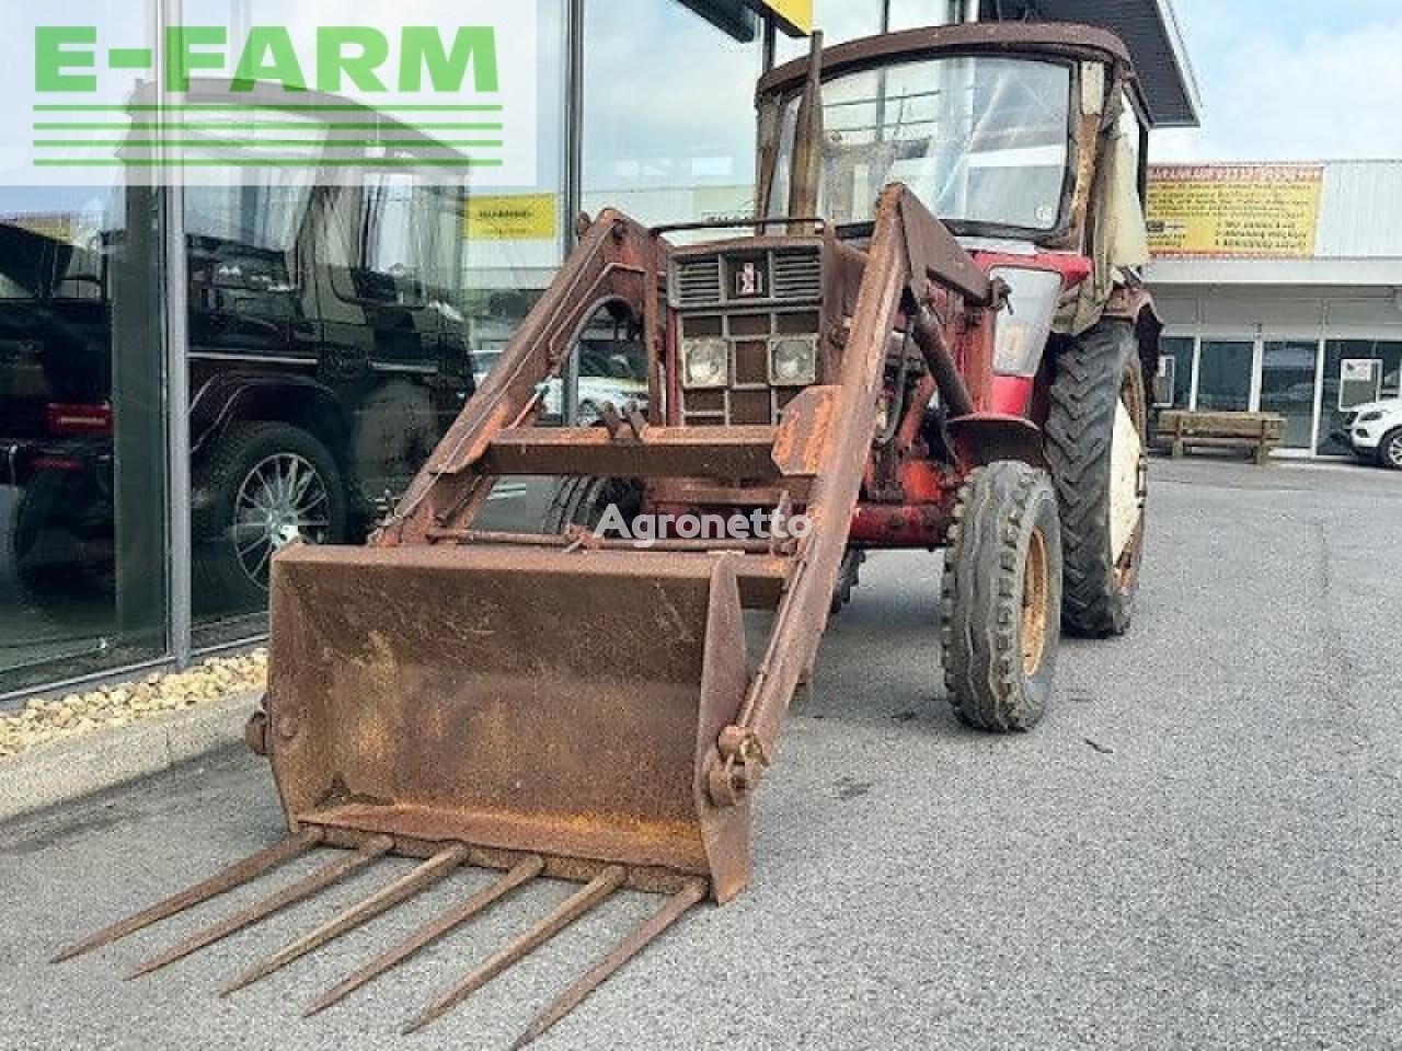
<svg viewBox="0 0 1402 1051">
<path fill-rule="evenodd" d="M 749 879 L 704 769 L 747 684 L 733 556 L 293 547 L 268 741 L 293 832 L 475 849 L 674 891 Z"/>
</svg>

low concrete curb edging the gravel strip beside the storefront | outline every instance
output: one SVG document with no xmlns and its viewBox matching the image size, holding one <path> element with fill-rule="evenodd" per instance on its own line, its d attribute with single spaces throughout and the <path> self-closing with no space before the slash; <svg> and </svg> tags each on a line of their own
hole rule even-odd
<svg viewBox="0 0 1402 1051">
<path fill-rule="evenodd" d="M 243 740 L 259 696 L 233 694 L 0 760 L 0 821 L 158 774 Z"/>
</svg>

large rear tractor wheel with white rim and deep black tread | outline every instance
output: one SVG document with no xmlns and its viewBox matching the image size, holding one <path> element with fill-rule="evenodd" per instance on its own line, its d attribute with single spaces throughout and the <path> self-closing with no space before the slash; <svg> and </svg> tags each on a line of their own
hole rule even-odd
<svg viewBox="0 0 1402 1051">
<path fill-rule="evenodd" d="M 1130 626 L 1144 554 L 1148 412 L 1138 339 L 1101 321 L 1056 360 L 1046 454 L 1061 506 L 1067 631 L 1103 638 Z"/>
</svg>

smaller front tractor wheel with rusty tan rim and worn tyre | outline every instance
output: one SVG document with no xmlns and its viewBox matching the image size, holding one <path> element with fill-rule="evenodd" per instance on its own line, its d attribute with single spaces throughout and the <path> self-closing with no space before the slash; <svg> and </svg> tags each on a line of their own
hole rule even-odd
<svg viewBox="0 0 1402 1051">
<path fill-rule="evenodd" d="M 955 715 L 993 733 L 1046 712 L 1061 642 L 1061 527 L 1044 471 L 979 468 L 959 490 L 941 597 L 945 687 Z"/>
</svg>

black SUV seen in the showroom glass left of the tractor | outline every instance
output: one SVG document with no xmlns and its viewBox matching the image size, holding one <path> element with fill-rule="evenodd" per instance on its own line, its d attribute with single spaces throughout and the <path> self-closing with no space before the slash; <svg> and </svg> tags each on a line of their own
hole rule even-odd
<svg viewBox="0 0 1402 1051">
<path fill-rule="evenodd" d="M 393 175 L 186 196 L 196 603 L 233 611 L 278 547 L 363 535 L 472 394 L 461 212 Z M 0 226 L 0 485 L 34 597 L 111 587 L 121 237 Z"/>
</svg>

